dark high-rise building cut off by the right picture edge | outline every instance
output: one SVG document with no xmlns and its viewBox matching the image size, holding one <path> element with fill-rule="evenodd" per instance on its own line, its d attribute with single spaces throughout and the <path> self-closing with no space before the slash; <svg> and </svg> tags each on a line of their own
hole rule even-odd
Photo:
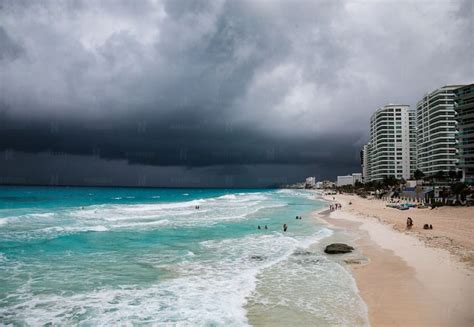
<svg viewBox="0 0 474 327">
<path fill-rule="evenodd" d="M 454 110 L 458 130 L 458 167 L 463 181 L 474 183 L 474 84 L 454 90 Z"/>
</svg>

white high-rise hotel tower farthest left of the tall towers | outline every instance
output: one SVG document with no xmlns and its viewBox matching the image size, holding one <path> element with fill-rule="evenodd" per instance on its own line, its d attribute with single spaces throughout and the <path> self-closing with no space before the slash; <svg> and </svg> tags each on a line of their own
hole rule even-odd
<svg viewBox="0 0 474 327">
<path fill-rule="evenodd" d="M 408 105 L 388 104 L 372 115 L 370 141 L 364 147 L 367 181 L 411 177 L 416 164 L 415 128 L 415 112 Z"/>
</svg>

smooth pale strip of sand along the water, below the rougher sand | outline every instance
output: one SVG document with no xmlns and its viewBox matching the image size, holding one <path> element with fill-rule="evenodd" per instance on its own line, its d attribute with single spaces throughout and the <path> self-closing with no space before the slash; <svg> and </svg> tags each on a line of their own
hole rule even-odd
<svg viewBox="0 0 474 327">
<path fill-rule="evenodd" d="M 349 260 L 346 266 L 367 304 L 371 325 L 474 325 L 472 266 L 461 262 L 461 257 L 449 249 L 425 244 L 416 233 L 405 234 L 391 228 L 380 214 L 374 216 L 360 207 L 356 214 L 348 205 L 349 201 L 370 200 L 335 197 L 336 202 L 342 203 L 342 210 L 314 216 L 356 236 L 357 251 L 368 257 L 368 263 L 356 259 Z M 332 198 L 323 199 L 332 202 Z"/>
</svg>

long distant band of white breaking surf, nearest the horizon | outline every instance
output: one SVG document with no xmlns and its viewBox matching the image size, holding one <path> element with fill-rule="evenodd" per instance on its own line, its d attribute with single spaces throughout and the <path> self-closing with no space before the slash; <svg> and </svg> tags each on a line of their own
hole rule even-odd
<svg viewBox="0 0 474 327">
<path fill-rule="evenodd" d="M 9 233 L 6 238 L 27 240 L 87 231 L 211 226 L 219 222 L 247 219 L 261 209 L 285 205 L 284 202 L 270 199 L 265 194 L 239 193 L 182 202 L 63 208 L 55 212 L 8 217 L 6 221 L 14 221 L 18 226 L 22 226 L 22 230 Z M 196 206 L 200 206 L 200 209 L 196 210 Z M 25 225 L 24 218 L 34 221 Z M 2 225 L 6 224 L 5 219 L 1 220 Z"/>
</svg>

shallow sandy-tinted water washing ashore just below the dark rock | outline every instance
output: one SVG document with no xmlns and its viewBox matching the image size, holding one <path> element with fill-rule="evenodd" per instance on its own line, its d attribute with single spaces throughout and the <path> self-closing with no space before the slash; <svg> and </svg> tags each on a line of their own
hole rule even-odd
<svg viewBox="0 0 474 327">
<path fill-rule="evenodd" d="M 316 242 L 300 239 L 291 256 L 260 274 L 249 297 L 250 314 L 271 317 L 281 306 L 291 312 L 282 317 L 289 319 L 287 324 L 297 318 L 301 325 L 368 326 L 367 307 L 351 274 L 316 245 L 331 234 L 322 229 Z"/>
</svg>

